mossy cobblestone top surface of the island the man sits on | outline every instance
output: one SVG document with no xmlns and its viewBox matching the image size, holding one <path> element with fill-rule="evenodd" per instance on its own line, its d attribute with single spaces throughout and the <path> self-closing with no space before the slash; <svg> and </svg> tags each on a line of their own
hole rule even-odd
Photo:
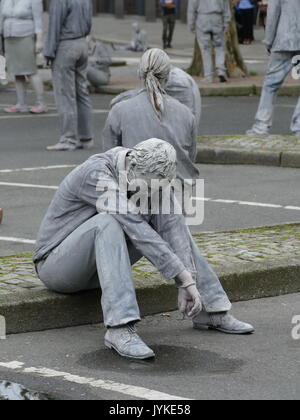
<svg viewBox="0 0 300 420">
<path fill-rule="evenodd" d="M 300 225 L 287 225 L 229 233 L 194 235 L 203 255 L 213 266 L 300 257 Z M 134 266 L 135 278 L 157 278 L 145 259 Z M 41 290 L 30 254 L 0 258 L 0 294 Z"/>
</svg>

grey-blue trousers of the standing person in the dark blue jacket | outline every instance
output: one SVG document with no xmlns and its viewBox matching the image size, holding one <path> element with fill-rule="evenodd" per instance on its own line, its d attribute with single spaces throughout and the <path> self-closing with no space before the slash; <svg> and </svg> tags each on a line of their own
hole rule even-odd
<svg viewBox="0 0 300 420">
<path fill-rule="evenodd" d="M 53 63 L 53 85 L 61 118 L 61 142 L 78 144 L 92 133 L 92 105 L 87 87 L 85 38 L 62 41 Z"/>
</svg>

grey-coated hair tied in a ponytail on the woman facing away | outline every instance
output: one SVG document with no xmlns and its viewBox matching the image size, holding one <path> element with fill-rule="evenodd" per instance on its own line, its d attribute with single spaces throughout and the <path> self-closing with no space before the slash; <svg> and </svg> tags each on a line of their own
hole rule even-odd
<svg viewBox="0 0 300 420">
<path fill-rule="evenodd" d="M 166 94 L 164 87 L 168 81 L 171 70 L 169 56 L 158 48 L 153 48 L 143 55 L 139 76 L 144 81 L 154 111 L 159 119 L 164 111 L 163 95 Z"/>
</svg>

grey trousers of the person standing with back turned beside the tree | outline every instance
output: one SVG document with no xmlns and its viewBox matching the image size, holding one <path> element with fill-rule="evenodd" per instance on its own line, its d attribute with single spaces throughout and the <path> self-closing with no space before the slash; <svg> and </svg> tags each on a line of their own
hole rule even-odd
<svg viewBox="0 0 300 420">
<path fill-rule="evenodd" d="M 197 39 L 202 54 L 205 78 L 214 76 L 212 47 L 215 50 L 218 76 L 225 76 L 225 33 L 221 15 L 199 16 L 197 21 Z"/>
</svg>

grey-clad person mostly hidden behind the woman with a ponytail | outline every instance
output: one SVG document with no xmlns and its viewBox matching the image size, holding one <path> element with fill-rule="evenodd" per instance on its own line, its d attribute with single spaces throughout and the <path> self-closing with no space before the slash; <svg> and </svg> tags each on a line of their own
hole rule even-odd
<svg viewBox="0 0 300 420">
<path fill-rule="evenodd" d="M 119 102 L 137 96 L 141 91 L 142 89 L 134 89 L 121 93 L 111 101 L 110 107 L 113 108 Z M 195 80 L 184 70 L 172 66 L 165 91 L 167 95 L 177 99 L 192 111 L 196 120 L 197 134 L 200 135 L 202 99 Z"/>
</svg>

